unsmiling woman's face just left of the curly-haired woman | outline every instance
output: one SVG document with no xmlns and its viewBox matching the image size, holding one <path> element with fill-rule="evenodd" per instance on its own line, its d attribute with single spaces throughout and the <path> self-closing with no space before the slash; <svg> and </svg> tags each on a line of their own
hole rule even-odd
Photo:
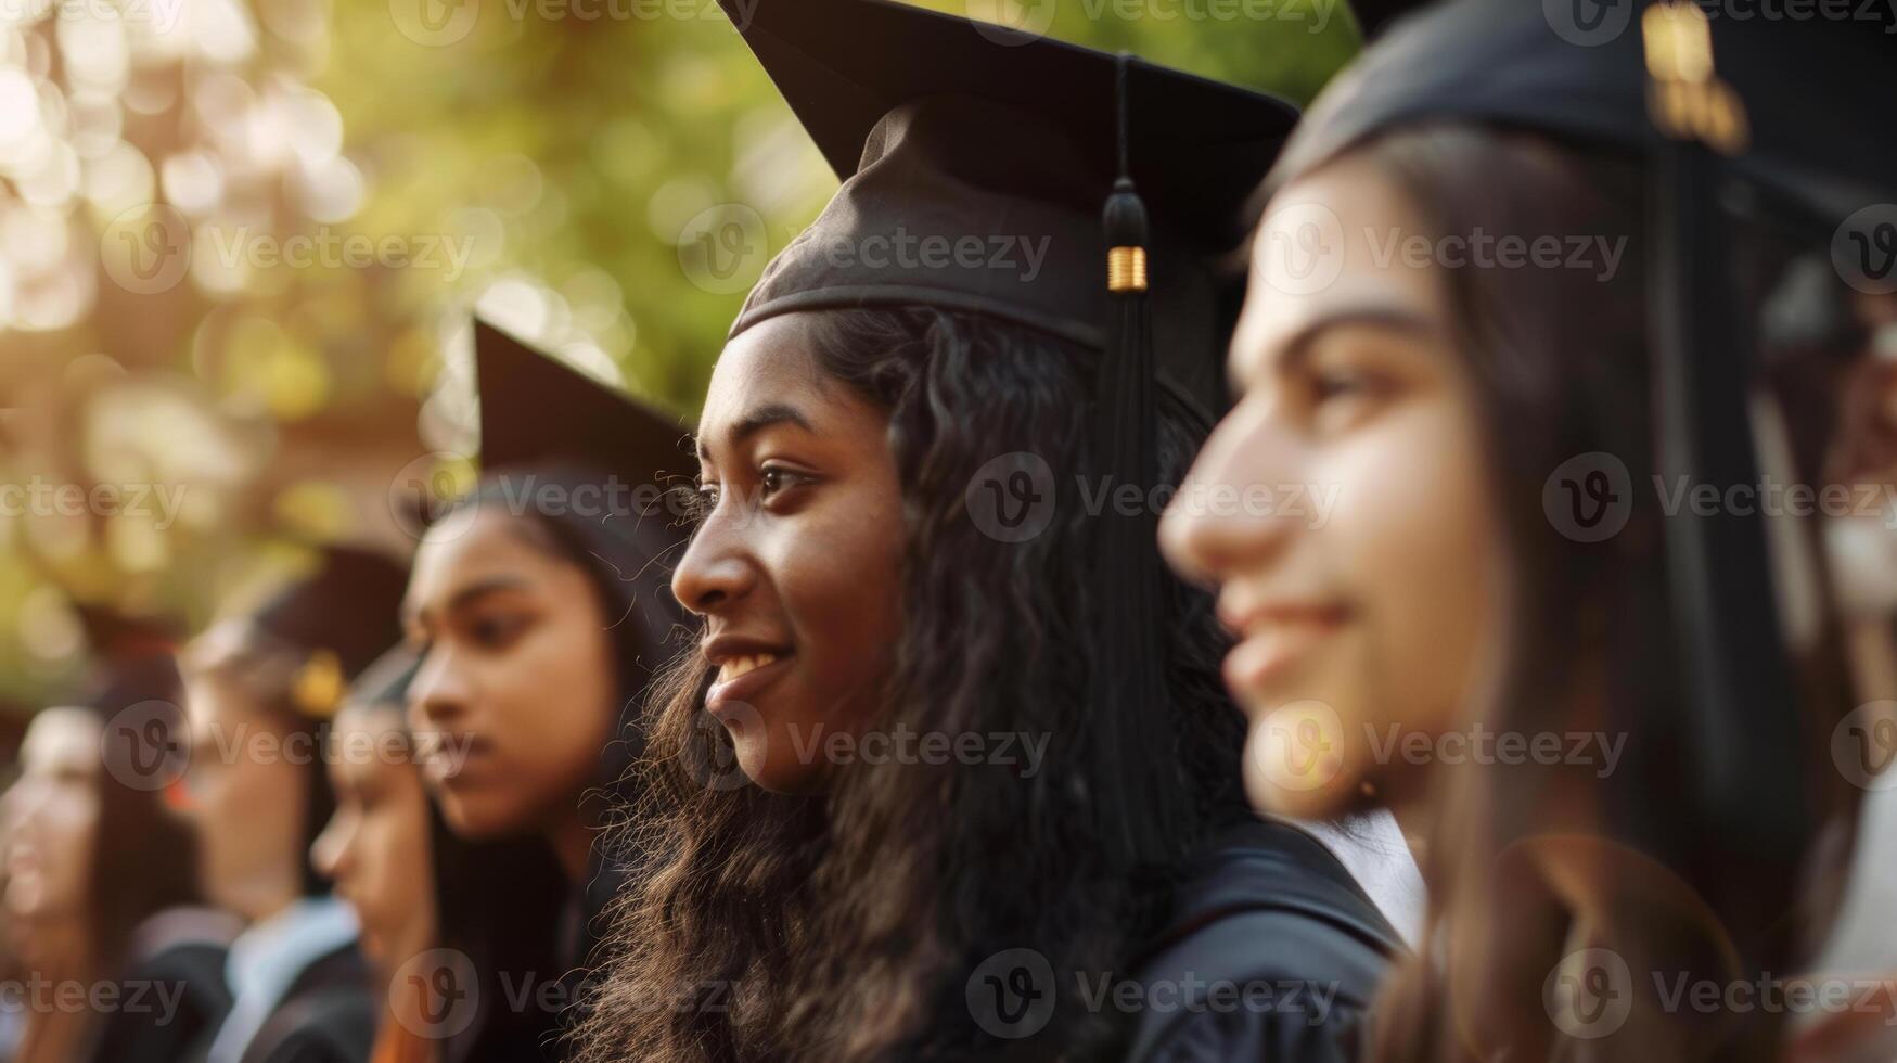
<svg viewBox="0 0 1897 1063">
<path fill-rule="evenodd" d="M 579 818 L 618 721 L 618 664 L 592 581 L 501 505 L 436 528 L 404 623 L 421 664 L 410 729 L 442 814 L 465 837 Z"/>
</svg>

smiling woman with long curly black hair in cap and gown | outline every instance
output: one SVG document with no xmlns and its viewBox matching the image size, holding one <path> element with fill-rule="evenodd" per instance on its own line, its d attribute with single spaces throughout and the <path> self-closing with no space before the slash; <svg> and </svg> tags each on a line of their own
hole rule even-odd
<svg viewBox="0 0 1897 1063">
<path fill-rule="evenodd" d="M 1163 495 L 1222 404 L 1241 205 L 1290 108 L 905 6 L 761 4 L 744 32 L 844 186 L 711 376 L 672 579 L 702 645 L 656 687 L 624 835 L 662 858 L 580 1057 L 1347 1042 L 1394 934 L 1317 841 L 1248 816 L 1208 596 L 1159 571 L 1150 507 L 1089 505 Z M 1032 233 L 1045 262 L 837 252 L 892 233 Z M 1332 1025 L 1199 1023 L 1201 960 L 1334 985 Z"/>
</svg>

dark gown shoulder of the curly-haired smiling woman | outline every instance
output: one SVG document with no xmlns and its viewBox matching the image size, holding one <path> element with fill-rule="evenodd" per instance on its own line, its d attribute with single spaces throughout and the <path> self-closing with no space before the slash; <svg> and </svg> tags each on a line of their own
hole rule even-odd
<svg viewBox="0 0 1897 1063">
<path fill-rule="evenodd" d="M 1127 1061 L 1356 1059 L 1370 1002 L 1402 949 L 1315 837 L 1282 822 L 1237 826 L 1208 849 L 1146 951 L 1138 981 L 1165 1006 L 1140 1012 Z"/>
</svg>

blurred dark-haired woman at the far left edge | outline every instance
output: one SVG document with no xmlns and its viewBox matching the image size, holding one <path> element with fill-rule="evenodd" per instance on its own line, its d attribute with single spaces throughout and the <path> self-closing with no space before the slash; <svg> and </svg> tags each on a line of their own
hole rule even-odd
<svg viewBox="0 0 1897 1063">
<path fill-rule="evenodd" d="M 95 676 L 74 704 L 32 718 L 0 809 L 6 915 L 27 985 L 21 1061 L 85 1059 L 120 1010 L 193 1017 L 182 985 L 127 978 L 148 919 L 195 896 L 192 839 L 165 807 L 161 776 L 182 738 L 173 645 L 157 625 L 95 607 L 80 617 Z"/>
</svg>

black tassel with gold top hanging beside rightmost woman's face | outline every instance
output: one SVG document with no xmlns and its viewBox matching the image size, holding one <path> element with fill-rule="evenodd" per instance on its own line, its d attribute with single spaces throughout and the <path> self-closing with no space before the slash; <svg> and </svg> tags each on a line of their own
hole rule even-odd
<svg viewBox="0 0 1897 1063">
<path fill-rule="evenodd" d="M 1732 309 L 1728 224 L 1719 201 L 1722 154 L 1743 150 L 1745 112 L 1713 72 L 1711 27 L 1690 2 L 1643 17 L 1656 144 L 1654 357 L 1664 478 L 1711 484 L 1721 497 L 1759 482 L 1749 380 L 1753 336 Z M 1764 522 L 1690 511 L 1666 522 L 1666 549 L 1686 699 L 1685 790 L 1702 830 L 1694 858 L 1730 871 L 1707 888 L 1741 949 L 1787 911 L 1810 841 L 1802 738 L 1779 634 Z M 1637 811 L 1630 811 L 1637 814 Z M 1743 913 L 1743 915 L 1741 915 Z M 1757 964 L 1759 957 L 1747 957 Z"/>
</svg>

